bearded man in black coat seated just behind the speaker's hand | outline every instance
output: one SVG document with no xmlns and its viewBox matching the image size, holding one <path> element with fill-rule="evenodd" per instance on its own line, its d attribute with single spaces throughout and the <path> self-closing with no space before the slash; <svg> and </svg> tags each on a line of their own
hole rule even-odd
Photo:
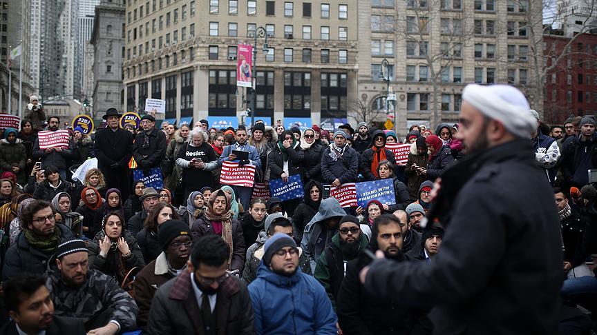
<svg viewBox="0 0 597 335">
<path fill-rule="evenodd" d="M 371 249 L 383 252 L 392 264 L 407 262 L 401 252 L 403 234 L 396 216 L 382 214 L 372 226 Z M 377 298 L 366 292 L 359 272 L 371 262 L 365 255 L 348 262 L 346 276 L 338 292 L 338 322 L 343 334 L 431 334 L 432 325 L 424 308 L 404 308 L 400 296 Z M 420 301 L 419 303 L 423 303 Z"/>
</svg>

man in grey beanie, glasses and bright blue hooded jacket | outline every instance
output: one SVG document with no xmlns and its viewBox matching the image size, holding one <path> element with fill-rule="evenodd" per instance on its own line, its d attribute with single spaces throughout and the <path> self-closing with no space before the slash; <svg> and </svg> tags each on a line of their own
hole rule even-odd
<svg viewBox="0 0 597 335">
<path fill-rule="evenodd" d="M 257 278 L 249 285 L 256 334 L 336 334 L 325 290 L 299 268 L 294 239 L 277 233 L 265 242 Z"/>
</svg>

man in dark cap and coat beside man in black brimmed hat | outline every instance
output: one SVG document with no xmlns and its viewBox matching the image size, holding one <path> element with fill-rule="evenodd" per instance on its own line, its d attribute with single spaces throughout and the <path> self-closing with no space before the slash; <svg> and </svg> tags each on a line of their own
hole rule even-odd
<svg viewBox="0 0 597 335">
<path fill-rule="evenodd" d="M 149 114 L 141 116 L 142 131 L 135 136 L 133 157 L 143 173 L 148 176 L 153 167 L 160 167 L 166 156 L 166 135 L 155 128 L 155 118 Z"/>
</svg>

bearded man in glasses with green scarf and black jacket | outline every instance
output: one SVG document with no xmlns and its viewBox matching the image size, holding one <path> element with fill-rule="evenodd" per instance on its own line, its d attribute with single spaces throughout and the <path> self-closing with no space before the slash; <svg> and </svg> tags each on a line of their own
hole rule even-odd
<svg viewBox="0 0 597 335">
<path fill-rule="evenodd" d="M 73 238 L 73 232 L 66 225 L 57 224 L 54 215 L 50 203 L 44 200 L 34 200 L 24 208 L 19 218 L 23 232 L 6 252 L 3 280 L 22 272 L 43 274 L 58 245 Z"/>
</svg>

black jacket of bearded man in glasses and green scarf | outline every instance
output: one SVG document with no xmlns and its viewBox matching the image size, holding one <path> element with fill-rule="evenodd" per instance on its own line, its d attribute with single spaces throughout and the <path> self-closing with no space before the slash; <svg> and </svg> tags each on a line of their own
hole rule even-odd
<svg viewBox="0 0 597 335">
<path fill-rule="evenodd" d="M 60 243 L 74 238 L 73 232 L 66 225 L 57 224 L 55 229 L 60 230 Z M 44 254 L 44 252 L 31 247 L 25 238 L 25 233 L 21 232 L 17 237 L 17 242 L 10 245 L 4 255 L 2 280 L 6 281 L 6 279 L 23 272 L 44 274 L 51 256 L 51 254 Z"/>
</svg>

